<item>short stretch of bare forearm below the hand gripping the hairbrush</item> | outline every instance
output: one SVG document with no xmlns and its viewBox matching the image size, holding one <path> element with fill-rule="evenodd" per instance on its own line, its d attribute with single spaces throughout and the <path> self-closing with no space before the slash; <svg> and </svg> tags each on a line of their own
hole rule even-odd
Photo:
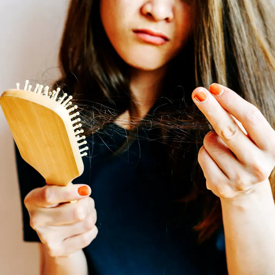
<svg viewBox="0 0 275 275">
<path fill-rule="evenodd" d="M 41 275 L 88 275 L 86 257 L 83 250 L 79 250 L 69 257 L 51 257 L 41 244 Z"/>
</svg>

